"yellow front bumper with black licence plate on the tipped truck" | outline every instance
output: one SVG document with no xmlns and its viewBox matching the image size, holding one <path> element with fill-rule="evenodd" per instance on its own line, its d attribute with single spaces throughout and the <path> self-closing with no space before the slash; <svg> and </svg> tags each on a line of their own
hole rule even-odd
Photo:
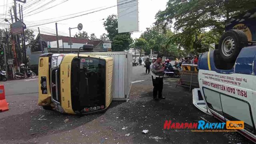
<svg viewBox="0 0 256 144">
<path fill-rule="evenodd" d="M 38 105 L 49 106 L 50 93 L 50 60 L 52 54 L 41 54 L 38 64 Z"/>
</svg>

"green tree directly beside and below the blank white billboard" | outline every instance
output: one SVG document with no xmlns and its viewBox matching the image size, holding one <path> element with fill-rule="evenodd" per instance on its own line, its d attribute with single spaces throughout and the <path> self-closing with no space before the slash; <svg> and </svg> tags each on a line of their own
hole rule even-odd
<svg viewBox="0 0 256 144">
<path fill-rule="evenodd" d="M 118 21 L 116 15 L 110 15 L 103 24 L 108 32 L 108 38 L 112 41 L 112 51 L 122 52 L 128 50 L 132 43 L 130 32 L 118 33 Z M 104 38 L 102 36 L 102 38 Z"/>
</svg>

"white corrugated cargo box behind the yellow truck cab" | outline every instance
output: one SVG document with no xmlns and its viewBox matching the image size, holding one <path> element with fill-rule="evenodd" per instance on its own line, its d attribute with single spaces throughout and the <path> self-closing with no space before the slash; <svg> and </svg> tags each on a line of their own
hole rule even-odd
<svg viewBox="0 0 256 144">
<path fill-rule="evenodd" d="M 132 54 L 129 52 L 81 52 L 98 56 L 111 56 L 114 59 L 113 100 L 127 100 L 132 86 Z"/>
</svg>

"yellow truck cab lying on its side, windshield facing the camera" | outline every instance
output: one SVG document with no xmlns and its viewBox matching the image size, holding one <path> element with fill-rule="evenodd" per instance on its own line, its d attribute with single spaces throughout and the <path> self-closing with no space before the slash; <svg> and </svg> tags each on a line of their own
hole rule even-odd
<svg viewBox="0 0 256 144">
<path fill-rule="evenodd" d="M 38 65 L 38 105 L 67 114 L 104 111 L 113 98 L 112 77 L 113 58 L 108 56 L 42 54 Z"/>
</svg>

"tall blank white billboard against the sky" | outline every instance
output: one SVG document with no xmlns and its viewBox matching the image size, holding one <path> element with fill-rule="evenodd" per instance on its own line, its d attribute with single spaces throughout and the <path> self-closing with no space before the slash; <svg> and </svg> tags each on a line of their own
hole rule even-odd
<svg viewBox="0 0 256 144">
<path fill-rule="evenodd" d="M 118 33 L 139 31 L 138 0 L 117 0 Z"/>
</svg>

